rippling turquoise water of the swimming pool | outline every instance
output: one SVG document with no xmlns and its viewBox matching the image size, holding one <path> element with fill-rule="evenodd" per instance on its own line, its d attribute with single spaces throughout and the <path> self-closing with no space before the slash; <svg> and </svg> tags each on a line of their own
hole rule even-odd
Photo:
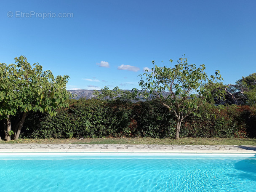
<svg viewBox="0 0 256 192">
<path fill-rule="evenodd" d="M 1 157 L 0 192 L 256 192 L 256 157 Z"/>
</svg>

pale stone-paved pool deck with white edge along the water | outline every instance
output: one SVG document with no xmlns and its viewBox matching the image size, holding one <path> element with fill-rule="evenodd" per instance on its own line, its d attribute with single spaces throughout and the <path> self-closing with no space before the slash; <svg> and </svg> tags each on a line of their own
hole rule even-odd
<svg viewBox="0 0 256 192">
<path fill-rule="evenodd" d="M 243 153 L 256 154 L 245 145 L 130 145 L 130 144 L 0 144 L 0 153 Z"/>
</svg>

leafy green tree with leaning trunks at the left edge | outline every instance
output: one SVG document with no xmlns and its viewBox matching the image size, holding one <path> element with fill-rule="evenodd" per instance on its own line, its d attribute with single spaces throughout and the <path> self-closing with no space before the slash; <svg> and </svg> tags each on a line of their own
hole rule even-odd
<svg viewBox="0 0 256 192">
<path fill-rule="evenodd" d="M 0 120 L 4 119 L 5 139 L 19 139 L 23 123 L 29 112 L 48 112 L 56 115 L 55 109 L 68 107 L 70 94 L 66 90 L 69 76 L 53 76 L 43 71 L 41 65 L 27 58 L 15 58 L 17 64 L 0 63 Z"/>
</svg>

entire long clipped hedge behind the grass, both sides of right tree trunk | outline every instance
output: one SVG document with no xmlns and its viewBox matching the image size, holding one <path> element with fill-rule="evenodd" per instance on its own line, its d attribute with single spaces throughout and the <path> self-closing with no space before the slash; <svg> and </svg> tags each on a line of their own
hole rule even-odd
<svg viewBox="0 0 256 192">
<path fill-rule="evenodd" d="M 175 136 L 176 120 L 157 101 L 130 103 L 97 99 L 71 100 L 56 117 L 32 113 L 24 123 L 23 138 L 154 137 Z M 248 106 L 198 109 L 181 124 L 181 137 L 255 137 L 256 108 Z"/>
</svg>

